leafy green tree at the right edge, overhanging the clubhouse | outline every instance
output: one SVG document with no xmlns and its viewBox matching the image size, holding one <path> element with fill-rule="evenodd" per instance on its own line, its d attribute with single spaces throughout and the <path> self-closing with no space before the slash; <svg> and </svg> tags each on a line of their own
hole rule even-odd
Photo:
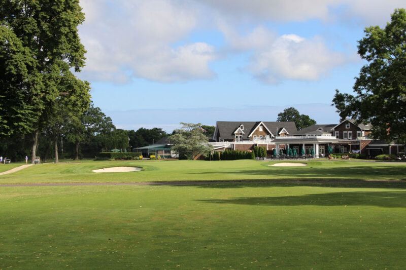
<svg viewBox="0 0 406 270">
<path fill-rule="evenodd" d="M 374 138 L 406 142 L 406 11 L 397 9 L 385 28 L 364 32 L 358 54 L 367 64 L 355 80 L 355 95 L 336 90 L 332 105 L 342 119 L 371 123 Z"/>
</svg>

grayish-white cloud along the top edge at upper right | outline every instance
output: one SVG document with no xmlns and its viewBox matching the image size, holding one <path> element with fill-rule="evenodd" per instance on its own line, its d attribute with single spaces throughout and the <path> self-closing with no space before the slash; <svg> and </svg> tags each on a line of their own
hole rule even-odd
<svg viewBox="0 0 406 270">
<path fill-rule="evenodd" d="M 196 0 L 197 1 L 197 0 Z M 396 8 L 405 8 L 403 0 L 198 0 L 233 21 L 269 20 L 274 22 L 322 21 L 357 18 L 363 23 L 384 24 Z M 340 14 L 337 14 L 339 11 Z"/>
</svg>

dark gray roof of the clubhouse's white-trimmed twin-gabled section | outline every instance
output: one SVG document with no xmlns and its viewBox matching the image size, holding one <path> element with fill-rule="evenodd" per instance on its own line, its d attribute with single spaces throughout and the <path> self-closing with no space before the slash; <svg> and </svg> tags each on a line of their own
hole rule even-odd
<svg viewBox="0 0 406 270">
<path fill-rule="evenodd" d="M 261 121 L 257 122 L 217 121 L 216 132 L 220 133 L 221 139 L 232 140 L 234 139 L 235 130 L 237 130 L 241 125 L 244 125 L 243 140 L 249 140 L 248 136 L 255 130 L 255 128 L 260 123 Z M 285 128 L 290 135 L 295 134 L 297 131 L 294 122 L 262 122 L 262 123 L 272 134 L 274 134 L 274 136 L 276 135 L 277 130 L 278 132 L 280 132 L 282 128 Z"/>
</svg>

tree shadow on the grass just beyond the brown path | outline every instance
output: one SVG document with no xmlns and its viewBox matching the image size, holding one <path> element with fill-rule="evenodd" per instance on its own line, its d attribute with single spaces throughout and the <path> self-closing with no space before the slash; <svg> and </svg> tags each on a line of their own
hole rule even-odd
<svg viewBox="0 0 406 270">
<path fill-rule="evenodd" d="M 195 174 L 195 173 L 191 173 Z M 349 179 L 379 179 L 379 180 L 406 180 L 406 166 L 355 166 L 339 168 L 323 167 L 269 167 L 262 170 L 241 171 L 211 171 L 199 172 L 198 174 L 238 174 L 255 175 L 275 178 L 349 178 Z"/>
</svg>

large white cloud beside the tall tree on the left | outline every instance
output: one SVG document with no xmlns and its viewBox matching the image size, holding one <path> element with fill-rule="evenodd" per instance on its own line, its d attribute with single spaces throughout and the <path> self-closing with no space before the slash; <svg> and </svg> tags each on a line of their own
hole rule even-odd
<svg viewBox="0 0 406 270">
<path fill-rule="evenodd" d="M 216 59 L 205 42 L 174 46 L 196 27 L 191 7 L 169 0 L 81 2 L 90 15 L 80 28 L 86 79 L 125 83 L 131 76 L 159 82 L 210 79 Z M 96 11 L 93 7 L 97 7 Z"/>
</svg>

